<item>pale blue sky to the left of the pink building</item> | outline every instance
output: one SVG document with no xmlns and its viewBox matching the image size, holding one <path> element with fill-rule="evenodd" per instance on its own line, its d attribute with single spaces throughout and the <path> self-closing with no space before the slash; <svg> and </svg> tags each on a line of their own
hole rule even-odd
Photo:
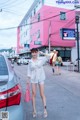
<svg viewBox="0 0 80 120">
<path fill-rule="evenodd" d="M 34 0 L 0 0 L 0 49 L 16 47 L 17 27 Z"/>
</svg>

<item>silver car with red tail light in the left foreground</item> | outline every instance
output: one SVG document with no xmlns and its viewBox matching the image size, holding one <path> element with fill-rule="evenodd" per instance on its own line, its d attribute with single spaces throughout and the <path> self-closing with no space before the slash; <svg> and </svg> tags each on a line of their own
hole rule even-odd
<svg viewBox="0 0 80 120">
<path fill-rule="evenodd" d="M 9 113 L 9 120 L 23 120 L 23 103 L 18 77 L 10 61 L 0 54 L 0 117 Z M 2 118 L 0 118 L 2 120 Z"/>
</svg>

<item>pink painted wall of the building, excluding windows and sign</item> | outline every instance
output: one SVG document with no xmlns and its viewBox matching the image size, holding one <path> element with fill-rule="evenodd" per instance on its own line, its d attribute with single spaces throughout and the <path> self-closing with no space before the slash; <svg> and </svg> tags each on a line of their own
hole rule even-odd
<svg viewBox="0 0 80 120">
<path fill-rule="evenodd" d="M 60 12 L 67 12 L 67 9 L 56 8 L 50 6 L 43 6 L 38 13 L 40 13 L 41 22 L 37 22 L 32 25 L 31 35 L 32 42 L 30 47 L 40 47 L 48 46 L 49 34 L 52 34 L 50 37 L 51 46 L 61 46 L 61 47 L 74 47 L 75 40 L 62 40 L 60 36 L 60 29 L 62 28 L 73 28 L 75 29 L 75 12 L 70 11 L 66 13 L 66 20 L 60 20 Z M 36 16 L 38 15 L 36 14 Z M 57 17 L 52 17 L 56 16 Z M 52 17 L 51 19 L 48 19 Z M 34 19 L 36 21 L 37 19 Z M 51 25 L 50 25 L 51 23 Z M 42 42 L 41 45 L 34 45 L 34 41 L 38 41 L 36 38 L 36 32 L 40 30 L 39 40 Z"/>
</svg>

